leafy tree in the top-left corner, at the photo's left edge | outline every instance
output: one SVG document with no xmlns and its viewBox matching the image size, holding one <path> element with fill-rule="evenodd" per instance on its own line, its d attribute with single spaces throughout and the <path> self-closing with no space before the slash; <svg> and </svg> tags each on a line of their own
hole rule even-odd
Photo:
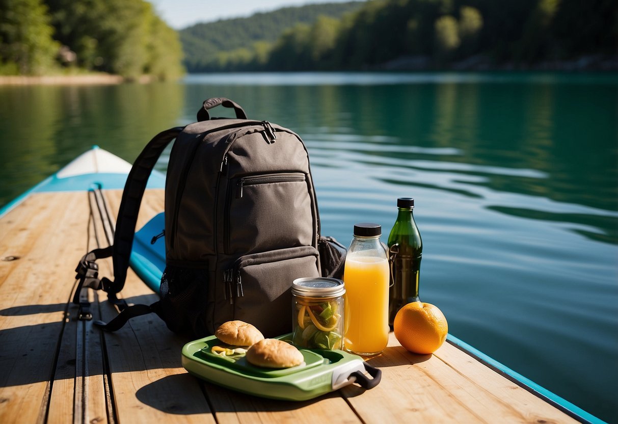
<svg viewBox="0 0 618 424">
<path fill-rule="evenodd" d="M 0 74 L 40 75 L 55 66 L 53 40 L 41 0 L 0 0 Z"/>
</svg>

